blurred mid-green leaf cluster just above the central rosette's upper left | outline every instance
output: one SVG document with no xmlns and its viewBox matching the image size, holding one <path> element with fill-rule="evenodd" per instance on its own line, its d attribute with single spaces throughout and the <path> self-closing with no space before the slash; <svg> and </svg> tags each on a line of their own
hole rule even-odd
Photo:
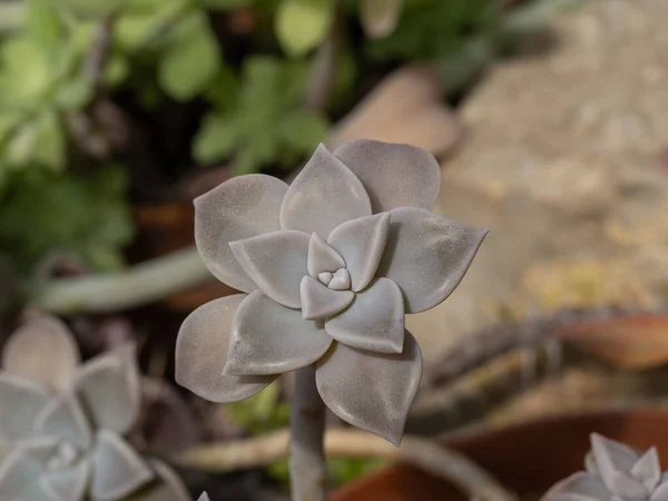
<svg viewBox="0 0 668 501">
<path fill-rule="evenodd" d="M 218 106 L 195 138 L 195 158 L 210 164 L 234 155 L 236 174 L 271 164 L 294 167 L 328 127 L 322 114 L 301 108 L 306 77 L 302 62 L 256 56 L 244 65 L 240 81 L 230 73 L 218 78 L 227 91 L 210 95 Z"/>
</svg>

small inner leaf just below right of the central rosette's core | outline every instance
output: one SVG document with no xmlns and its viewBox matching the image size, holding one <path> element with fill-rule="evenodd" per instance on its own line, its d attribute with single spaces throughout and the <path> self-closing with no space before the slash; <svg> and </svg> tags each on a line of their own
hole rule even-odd
<svg viewBox="0 0 668 501">
<path fill-rule="evenodd" d="M 326 321 L 325 331 L 352 347 L 401 353 L 405 315 L 399 286 L 389 278 L 376 279 L 346 311 Z"/>
</svg>

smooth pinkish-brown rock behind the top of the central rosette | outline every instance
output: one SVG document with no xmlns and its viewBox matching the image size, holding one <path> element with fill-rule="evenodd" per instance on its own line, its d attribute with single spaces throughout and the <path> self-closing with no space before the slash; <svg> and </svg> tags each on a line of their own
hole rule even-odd
<svg viewBox="0 0 668 501">
<path fill-rule="evenodd" d="M 443 156 L 460 143 L 463 128 L 442 97 L 435 68 L 401 68 L 343 118 L 327 147 L 365 138 L 420 146 Z"/>
</svg>

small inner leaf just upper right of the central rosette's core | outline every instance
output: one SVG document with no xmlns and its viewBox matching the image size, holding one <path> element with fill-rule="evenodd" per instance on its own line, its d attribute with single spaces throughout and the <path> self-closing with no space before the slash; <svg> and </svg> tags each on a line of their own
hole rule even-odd
<svg viewBox="0 0 668 501">
<path fill-rule="evenodd" d="M 347 220 L 334 228 L 327 238 L 327 243 L 344 258 L 354 292 L 362 291 L 371 283 L 389 233 L 390 214 L 382 213 Z"/>
</svg>

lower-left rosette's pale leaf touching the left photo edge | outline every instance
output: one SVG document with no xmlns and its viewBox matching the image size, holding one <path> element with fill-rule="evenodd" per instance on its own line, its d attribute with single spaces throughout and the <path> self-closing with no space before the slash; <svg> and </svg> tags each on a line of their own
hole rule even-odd
<svg viewBox="0 0 668 501">
<path fill-rule="evenodd" d="M 20 402 L 20 405 L 17 404 Z M 35 416 L 49 402 L 47 390 L 32 381 L 0 373 L 0 436 L 7 442 L 30 436 Z"/>
</svg>

